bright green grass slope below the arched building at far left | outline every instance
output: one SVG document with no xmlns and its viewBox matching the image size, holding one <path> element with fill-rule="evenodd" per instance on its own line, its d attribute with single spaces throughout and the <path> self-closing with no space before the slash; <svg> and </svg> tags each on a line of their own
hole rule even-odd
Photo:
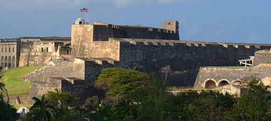
<svg viewBox="0 0 271 121">
<path fill-rule="evenodd" d="M 21 81 L 19 78 L 26 76 L 39 67 L 41 66 L 17 67 L 0 74 L 4 79 L 5 87 L 8 90 L 9 96 L 28 94 L 30 82 Z"/>
</svg>

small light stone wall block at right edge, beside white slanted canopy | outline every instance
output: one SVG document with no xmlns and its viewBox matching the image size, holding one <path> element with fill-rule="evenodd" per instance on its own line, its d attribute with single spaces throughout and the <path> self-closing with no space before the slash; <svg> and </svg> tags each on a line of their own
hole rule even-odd
<svg viewBox="0 0 271 121">
<path fill-rule="evenodd" d="M 256 52 L 253 66 L 256 66 L 260 63 L 271 63 L 271 52 Z"/>
</svg>

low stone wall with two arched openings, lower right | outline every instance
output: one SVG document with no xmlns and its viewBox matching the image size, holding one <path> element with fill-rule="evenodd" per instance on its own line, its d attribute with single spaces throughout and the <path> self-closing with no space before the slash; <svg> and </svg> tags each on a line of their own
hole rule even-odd
<svg viewBox="0 0 271 121">
<path fill-rule="evenodd" d="M 212 80 L 218 86 L 219 82 L 226 80 L 232 83 L 234 79 L 240 80 L 247 76 L 249 68 L 217 68 L 217 67 L 200 67 L 196 76 L 194 88 L 204 88 L 204 82 Z"/>
</svg>

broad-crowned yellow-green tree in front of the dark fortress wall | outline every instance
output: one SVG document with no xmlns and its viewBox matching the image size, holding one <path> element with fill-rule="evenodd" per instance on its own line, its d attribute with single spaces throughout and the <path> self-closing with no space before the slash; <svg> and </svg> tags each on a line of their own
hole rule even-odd
<svg viewBox="0 0 271 121">
<path fill-rule="evenodd" d="M 94 86 L 105 90 L 107 96 L 123 93 L 124 98 L 134 100 L 149 82 L 146 73 L 124 68 L 107 68 L 102 70 Z"/>
</svg>

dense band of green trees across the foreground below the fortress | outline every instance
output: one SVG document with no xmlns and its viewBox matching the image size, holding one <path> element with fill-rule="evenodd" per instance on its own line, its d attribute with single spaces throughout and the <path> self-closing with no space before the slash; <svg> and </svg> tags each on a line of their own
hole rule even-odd
<svg viewBox="0 0 271 121">
<path fill-rule="evenodd" d="M 95 85 L 107 91 L 105 98 L 93 95 L 83 106 L 75 106 L 74 96 L 56 90 L 47 98 L 33 98 L 36 103 L 28 116 L 37 115 L 40 121 L 271 121 L 270 91 L 258 80 L 248 81 L 247 94 L 241 97 L 211 90 L 173 95 L 165 90 L 164 78 L 119 68 L 103 70 Z M 109 98 L 120 93 L 117 102 Z"/>
</svg>

